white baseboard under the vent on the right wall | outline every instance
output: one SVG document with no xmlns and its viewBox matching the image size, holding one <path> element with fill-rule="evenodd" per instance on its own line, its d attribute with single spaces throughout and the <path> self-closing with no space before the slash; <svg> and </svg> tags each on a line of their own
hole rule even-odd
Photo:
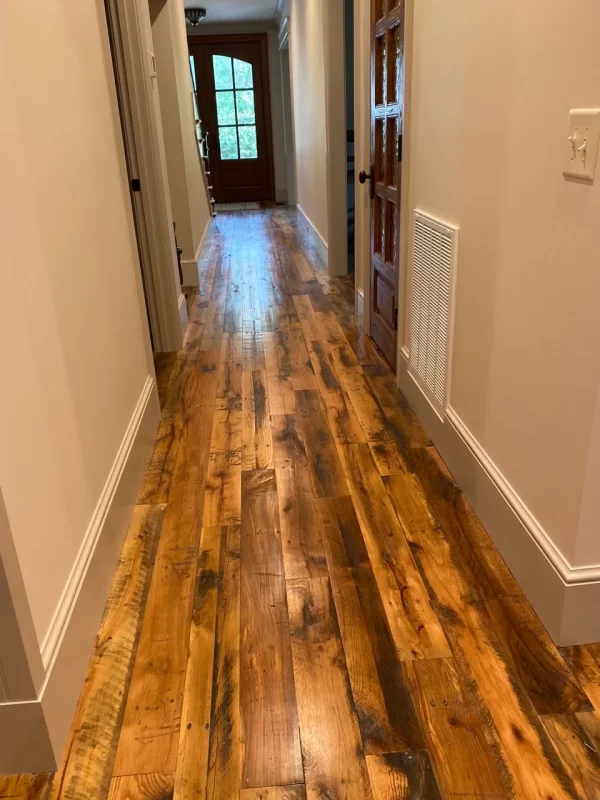
<svg viewBox="0 0 600 800">
<path fill-rule="evenodd" d="M 509 569 L 559 645 L 600 641 L 600 567 L 571 566 L 453 409 L 444 419 L 408 372 L 400 389 L 412 405 Z"/>
</svg>

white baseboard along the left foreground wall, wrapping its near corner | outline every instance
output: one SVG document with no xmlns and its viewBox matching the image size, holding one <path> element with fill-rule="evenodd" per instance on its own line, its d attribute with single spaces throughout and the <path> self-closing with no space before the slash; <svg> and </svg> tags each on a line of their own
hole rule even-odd
<svg viewBox="0 0 600 800">
<path fill-rule="evenodd" d="M 159 421 L 148 376 L 43 641 L 40 694 L 0 704 L 0 774 L 56 769 Z"/>
</svg>

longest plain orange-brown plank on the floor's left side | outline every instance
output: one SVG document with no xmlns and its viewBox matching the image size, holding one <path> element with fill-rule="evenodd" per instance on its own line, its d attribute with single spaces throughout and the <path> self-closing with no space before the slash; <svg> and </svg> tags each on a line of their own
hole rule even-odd
<svg viewBox="0 0 600 800">
<path fill-rule="evenodd" d="M 127 698 L 115 775 L 170 773 L 177 763 L 218 381 L 215 354 L 200 355 L 198 366 L 190 368 L 186 380 L 184 403 L 188 413 Z"/>
</svg>

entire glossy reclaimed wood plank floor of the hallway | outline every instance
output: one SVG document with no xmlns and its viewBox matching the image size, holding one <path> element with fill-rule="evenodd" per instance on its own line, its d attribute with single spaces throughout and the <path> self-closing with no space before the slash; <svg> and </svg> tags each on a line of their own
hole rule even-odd
<svg viewBox="0 0 600 800">
<path fill-rule="evenodd" d="M 292 211 L 212 228 L 64 763 L 28 800 L 600 798 L 560 652 Z"/>
</svg>

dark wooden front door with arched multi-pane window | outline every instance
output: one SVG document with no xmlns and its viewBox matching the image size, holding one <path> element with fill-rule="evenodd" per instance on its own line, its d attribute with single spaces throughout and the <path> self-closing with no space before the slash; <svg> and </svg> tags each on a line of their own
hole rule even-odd
<svg viewBox="0 0 600 800">
<path fill-rule="evenodd" d="M 275 202 L 266 34 L 188 41 L 215 201 Z"/>
</svg>

